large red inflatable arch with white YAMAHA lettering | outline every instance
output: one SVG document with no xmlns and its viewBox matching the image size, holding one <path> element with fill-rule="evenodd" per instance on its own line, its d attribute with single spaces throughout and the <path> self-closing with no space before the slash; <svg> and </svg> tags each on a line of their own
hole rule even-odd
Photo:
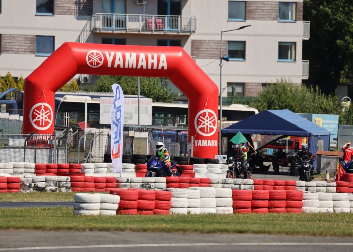
<svg viewBox="0 0 353 252">
<path fill-rule="evenodd" d="M 193 156 L 218 154 L 218 87 L 180 47 L 64 43 L 25 80 L 23 133 L 53 134 L 54 93 L 76 74 L 169 78 L 189 99 Z"/>
</svg>

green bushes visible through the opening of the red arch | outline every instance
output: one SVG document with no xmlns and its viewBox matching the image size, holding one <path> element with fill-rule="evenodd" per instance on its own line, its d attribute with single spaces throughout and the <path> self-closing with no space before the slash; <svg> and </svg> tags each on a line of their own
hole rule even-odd
<svg viewBox="0 0 353 252">
<path fill-rule="evenodd" d="M 128 76 L 98 76 L 96 85 L 90 91 L 112 92 L 111 85 L 117 83 L 121 86 L 123 93 L 137 95 L 137 77 Z M 172 102 L 177 94 L 167 87 L 164 78 L 141 77 L 140 95 L 153 99 L 154 102 Z"/>
</svg>

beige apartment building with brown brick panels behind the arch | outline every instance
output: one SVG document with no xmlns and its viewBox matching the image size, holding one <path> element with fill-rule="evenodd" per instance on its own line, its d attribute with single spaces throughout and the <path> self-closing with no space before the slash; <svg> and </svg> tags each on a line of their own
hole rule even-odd
<svg viewBox="0 0 353 252">
<path fill-rule="evenodd" d="M 253 97 L 308 78 L 309 30 L 303 0 L 0 0 L 0 75 L 27 77 L 64 42 L 181 46 L 222 97 Z"/>
</svg>

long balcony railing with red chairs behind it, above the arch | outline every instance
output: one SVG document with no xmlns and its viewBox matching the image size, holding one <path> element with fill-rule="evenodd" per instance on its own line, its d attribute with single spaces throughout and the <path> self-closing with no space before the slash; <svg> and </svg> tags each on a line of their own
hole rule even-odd
<svg viewBox="0 0 353 252">
<path fill-rule="evenodd" d="M 196 31 L 196 17 L 96 13 L 92 28 L 94 32 L 191 34 Z"/>
</svg>

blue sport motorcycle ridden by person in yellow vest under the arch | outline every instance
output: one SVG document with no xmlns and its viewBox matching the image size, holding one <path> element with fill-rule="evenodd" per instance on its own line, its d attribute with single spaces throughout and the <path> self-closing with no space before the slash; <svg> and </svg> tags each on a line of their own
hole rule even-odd
<svg viewBox="0 0 353 252">
<path fill-rule="evenodd" d="M 172 162 L 167 172 L 164 169 L 164 162 L 158 160 L 156 156 L 151 156 L 147 162 L 147 173 L 145 177 L 180 177 L 181 170 L 177 167 L 177 170 L 172 170 L 178 162 Z"/>
</svg>

